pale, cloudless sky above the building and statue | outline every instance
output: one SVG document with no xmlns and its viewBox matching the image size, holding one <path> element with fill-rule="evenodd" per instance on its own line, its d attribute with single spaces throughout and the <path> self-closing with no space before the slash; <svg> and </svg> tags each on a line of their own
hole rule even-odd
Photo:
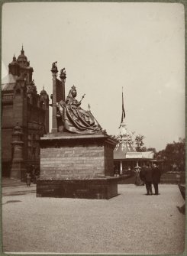
<svg viewBox="0 0 187 256">
<path fill-rule="evenodd" d="M 185 138 L 185 14 L 179 3 L 26 2 L 2 8 L 2 78 L 21 53 L 37 92 L 52 93 L 51 66 L 66 68 L 82 109 L 118 134 L 125 124 L 146 147 Z M 50 117 L 51 119 L 51 117 Z"/>
</svg>

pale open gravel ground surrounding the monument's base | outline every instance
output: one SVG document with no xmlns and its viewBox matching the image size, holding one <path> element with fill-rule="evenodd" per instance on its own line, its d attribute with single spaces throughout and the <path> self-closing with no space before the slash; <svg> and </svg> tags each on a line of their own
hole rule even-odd
<svg viewBox="0 0 187 256">
<path fill-rule="evenodd" d="M 35 186 L 2 190 L 3 251 L 179 254 L 185 247 L 184 200 L 176 185 L 118 185 L 112 199 L 37 198 Z"/>
</svg>

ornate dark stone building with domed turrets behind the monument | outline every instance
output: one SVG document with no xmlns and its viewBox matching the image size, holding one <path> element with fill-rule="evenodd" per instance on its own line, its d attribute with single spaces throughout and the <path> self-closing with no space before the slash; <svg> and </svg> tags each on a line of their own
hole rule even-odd
<svg viewBox="0 0 187 256">
<path fill-rule="evenodd" d="M 2 79 L 2 175 L 21 180 L 24 173 L 17 171 L 15 174 L 16 167 L 12 167 L 14 157 L 18 157 L 21 150 L 23 170 L 31 165 L 39 167 L 39 140 L 49 131 L 49 97 L 44 89 L 37 93 L 33 71 L 22 47 L 18 59 L 14 56 L 8 65 L 8 76 Z M 14 139 L 16 125 L 21 128 L 23 142 L 19 143 L 21 146 L 17 152 Z"/>
</svg>

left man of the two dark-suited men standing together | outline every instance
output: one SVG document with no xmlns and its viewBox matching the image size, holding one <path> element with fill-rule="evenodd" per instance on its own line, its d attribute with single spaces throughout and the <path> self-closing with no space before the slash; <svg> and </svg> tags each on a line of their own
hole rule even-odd
<svg viewBox="0 0 187 256">
<path fill-rule="evenodd" d="M 152 171 L 147 165 L 143 165 L 140 171 L 140 179 L 146 184 L 147 195 L 153 195 L 152 192 Z"/>
</svg>

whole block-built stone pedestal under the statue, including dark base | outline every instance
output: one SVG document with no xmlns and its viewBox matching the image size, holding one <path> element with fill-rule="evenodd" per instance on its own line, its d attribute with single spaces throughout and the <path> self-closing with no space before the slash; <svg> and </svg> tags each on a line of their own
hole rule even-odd
<svg viewBox="0 0 187 256">
<path fill-rule="evenodd" d="M 117 196 L 115 144 L 105 134 L 47 134 L 40 139 L 37 196 L 92 199 Z"/>
</svg>

